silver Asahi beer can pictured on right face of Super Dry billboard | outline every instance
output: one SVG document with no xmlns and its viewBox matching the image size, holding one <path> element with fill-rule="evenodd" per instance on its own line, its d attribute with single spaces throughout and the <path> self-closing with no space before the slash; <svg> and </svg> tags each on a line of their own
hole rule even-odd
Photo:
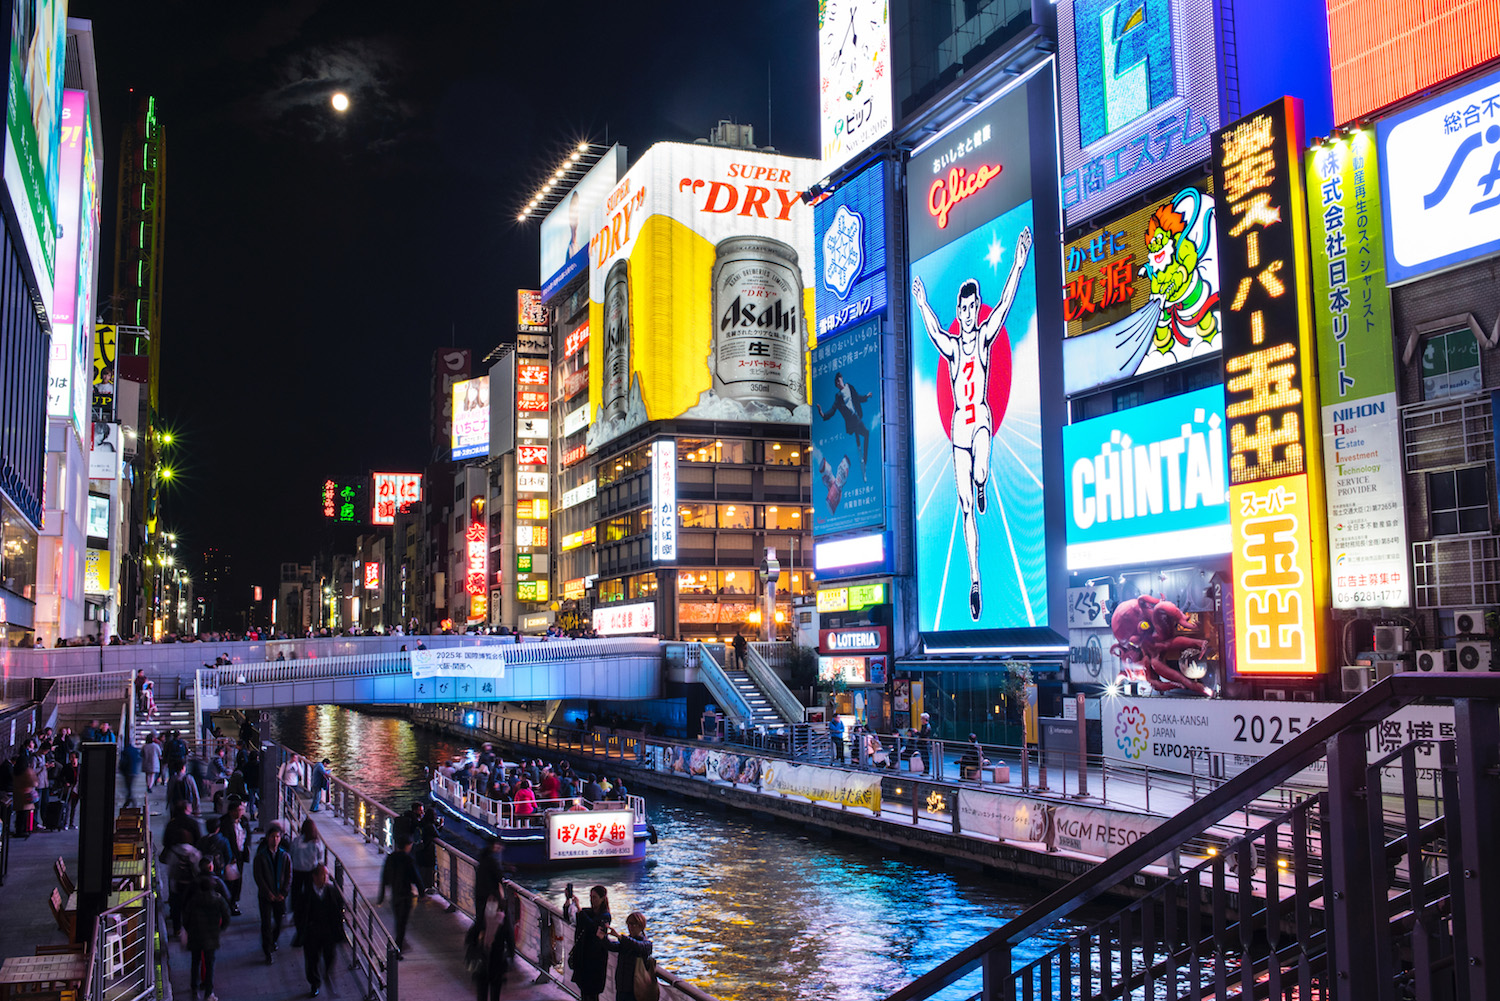
<svg viewBox="0 0 1500 1001">
<path fill-rule="evenodd" d="M 714 392 L 795 410 L 807 402 L 807 317 L 796 251 L 766 237 L 714 248 Z"/>
</svg>

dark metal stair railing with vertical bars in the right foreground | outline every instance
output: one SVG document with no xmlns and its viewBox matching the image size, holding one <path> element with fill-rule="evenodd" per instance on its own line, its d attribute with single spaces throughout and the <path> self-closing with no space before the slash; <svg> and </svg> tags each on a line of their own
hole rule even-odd
<svg viewBox="0 0 1500 1001">
<path fill-rule="evenodd" d="M 1400 708 L 1454 701 L 1454 737 L 1371 759 L 1370 729 Z M 1424 819 L 1418 753 L 1442 762 Z M 1326 759 L 1308 795 L 1202 864 L 1150 885 L 1144 867 Z M 1380 794 L 1400 768 L 1400 792 Z M 1392 836 L 1386 818 L 1401 822 Z M 1166 819 L 1130 848 L 890 995 L 930 998 L 980 972 L 978 998 L 1500 996 L 1500 675 L 1395 675 Z M 1462 878 L 1455 878 L 1461 873 Z M 1142 899 L 1016 966 L 1018 950 L 1106 893 Z M 1034 954 L 1034 953 L 1032 953 Z M 1494 969 L 1496 972 L 1491 972 Z"/>
</svg>

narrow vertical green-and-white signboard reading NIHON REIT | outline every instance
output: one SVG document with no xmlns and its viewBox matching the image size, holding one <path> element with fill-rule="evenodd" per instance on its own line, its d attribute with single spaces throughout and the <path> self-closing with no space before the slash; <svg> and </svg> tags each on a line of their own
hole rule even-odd
<svg viewBox="0 0 1500 1001">
<path fill-rule="evenodd" d="M 1402 608 L 1406 482 L 1376 137 L 1306 155 L 1334 608 Z"/>
</svg>

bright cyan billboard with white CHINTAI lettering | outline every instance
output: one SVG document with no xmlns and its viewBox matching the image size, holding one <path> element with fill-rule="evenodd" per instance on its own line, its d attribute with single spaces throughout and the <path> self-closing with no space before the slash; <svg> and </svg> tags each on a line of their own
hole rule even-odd
<svg viewBox="0 0 1500 1001">
<path fill-rule="evenodd" d="M 1068 569 L 1230 551 L 1224 387 L 1062 429 Z"/>
</svg>

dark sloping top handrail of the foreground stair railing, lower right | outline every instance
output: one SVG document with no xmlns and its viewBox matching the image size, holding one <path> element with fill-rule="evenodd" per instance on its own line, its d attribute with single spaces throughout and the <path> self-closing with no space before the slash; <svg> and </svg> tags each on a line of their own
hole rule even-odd
<svg viewBox="0 0 1500 1001">
<path fill-rule="evenodd" d="M 1354 726 L 1372 726 L 1392 713 L 1428 699 L 1494 699 L 1500 701 L 1500 674 L 1424 675 L 1394 674 L 1356 698 L 1344 702 L 1298 737 L 1266 755 L 1238 776 L 1184 809 L 1155 830 L 1143 834 L 1124 851 L 1106 858 L 1089 872 L 1064 884 L 1053 893 L 1022 911 L 968 948 L 888 995 L 885 1001 L 921 1001 L 948 987 L 962 977 L 986 966 L 986 975 L 1011 974 L 1010 951 L 1054 921 L 1108 893 L 1143 867 L 1170 854 L 1191 837 L 1220 822 L 1244 803 L 1284 783 L 1308 765 L 1322 759 L 1330 738 Z M 993 963 L 1000 959 L 1002 968 Z"/>
</svg>

